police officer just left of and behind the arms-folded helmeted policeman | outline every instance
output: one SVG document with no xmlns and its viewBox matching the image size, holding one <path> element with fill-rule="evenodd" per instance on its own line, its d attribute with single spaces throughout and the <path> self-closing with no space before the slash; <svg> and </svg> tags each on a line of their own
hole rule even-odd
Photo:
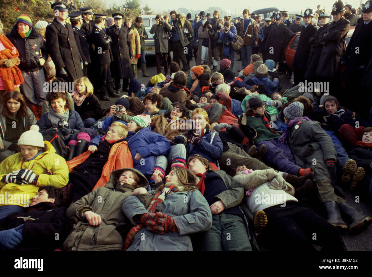
<svg viewBox="0 0 372 277">
<path fill-rule="evenodd" d="M 311 48 L 304 77 L 311 82 L 315 80 L 315 72 L 317 71 L 319 59 L 323 50 L 323 44 L 320 43 L 320 39 L 323 38 L 324 34 L 327 32 L 330 17 L 331 15 L 329 13 L 320 13 L 319 23 L 321 27 L 318 29 L 317 34 L 309 39 Z"/>
</svg>

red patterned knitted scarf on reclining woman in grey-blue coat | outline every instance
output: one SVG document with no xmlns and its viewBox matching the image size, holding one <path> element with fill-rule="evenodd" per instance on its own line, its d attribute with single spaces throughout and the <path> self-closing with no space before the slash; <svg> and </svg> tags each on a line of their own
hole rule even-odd
<svg viewBox="0 0 372 277">
<path fill-rule="evenodd" d="M 153 198 L 151 199 L 150 205 L 148 206 L 147 210 L 149 213 L 155 213 L 156 212 L 156 206 L 158 204 L 163 203 L 164 199 L 168 196 L 170 192 L 177 192 L 178 188 L 174 185 L 165 186 L 163 190 L 157 192 Z M 129 245 L 131 245 L 131 242 L 135 236 L 135 234 L 143 227 L 142 224 L 135 225 L 132 227 L 132 229 L 128 232 L 128 235 L 126 235 L 125 238 L 125 244 L 124 244 L 124 251 L 129 248 Z"/>
</svg>

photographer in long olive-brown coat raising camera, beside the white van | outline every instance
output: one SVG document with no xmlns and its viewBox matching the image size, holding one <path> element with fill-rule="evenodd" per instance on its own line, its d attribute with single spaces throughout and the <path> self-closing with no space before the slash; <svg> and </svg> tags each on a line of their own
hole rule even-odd
<svg viewBox="0 0 372 277">
<path fill-rule="evenodd" d="M 161 59 L 163 59 L 165 76 L 168 75 L 168 32 L 171 28 L 161 15 L 157 15 L 155 16 L 155 24 L 150 30 L 150 34 L 154 35 L 157 74 L 161 73 Z"/>
</svg>

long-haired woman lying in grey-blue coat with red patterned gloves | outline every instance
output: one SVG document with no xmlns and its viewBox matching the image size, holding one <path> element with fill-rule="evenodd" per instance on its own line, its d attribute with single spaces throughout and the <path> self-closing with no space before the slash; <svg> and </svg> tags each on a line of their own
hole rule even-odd
<svg viewBox="0 0 372 277">
<path fill-rule="evenodd" d="M 156 184 L 149 192 L 135 189 L 123 203 L 125 216 L 135 224 L 124 250 L 192 251 L 190 235 L 212 226 L 211 209 L 197 183 L 190 170 L 174 167 L 165 184 Z M 147 239 L 141 239 L 143 234 Z"/>
</svg>

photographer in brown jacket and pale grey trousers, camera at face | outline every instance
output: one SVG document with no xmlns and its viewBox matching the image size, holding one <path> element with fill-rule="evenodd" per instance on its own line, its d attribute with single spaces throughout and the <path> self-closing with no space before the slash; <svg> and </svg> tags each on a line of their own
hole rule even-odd
<svg viewBox="0 0 372 277">
<path fill-rule="evenodd" d="M 203 26 L 198 30 L 199 47 L 196 52 L 196 65 L 207 64 L 209 67 L 212 63 L 212 39 L 214 37 L 214 30 L 212 22 L 206 20 Z"/>
</svg>

